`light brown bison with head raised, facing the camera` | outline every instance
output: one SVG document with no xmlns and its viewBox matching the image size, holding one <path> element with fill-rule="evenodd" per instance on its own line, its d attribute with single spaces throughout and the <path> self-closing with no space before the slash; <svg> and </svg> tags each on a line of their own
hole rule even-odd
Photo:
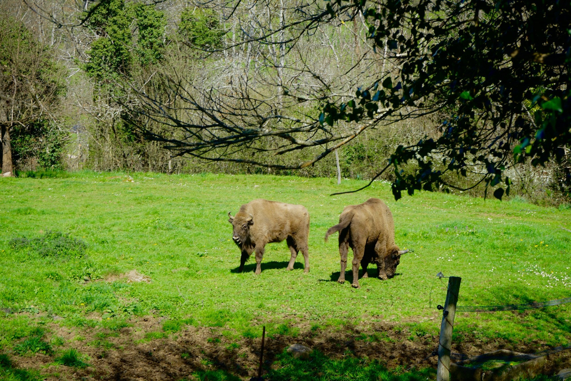
<svg viewBox="0 0 571 381">
<path fill-rule="evenodd" d="M 267 243 L 286 240 L 291 251 L 287 269 L 293 269 L 297 253 L 301 250 L 305 271 L 309 272 L 307 239 L 309 213 L 301 205 L 276 203 L 258 199 L 242 205 L 234 217 L 228 212 L 229 223 L 234 227 L 232 239 L 242 251 L 240 272 L 252 252 L 256 252 L 256 274 L 262 272 L 260 263 Z"/>
</svg>

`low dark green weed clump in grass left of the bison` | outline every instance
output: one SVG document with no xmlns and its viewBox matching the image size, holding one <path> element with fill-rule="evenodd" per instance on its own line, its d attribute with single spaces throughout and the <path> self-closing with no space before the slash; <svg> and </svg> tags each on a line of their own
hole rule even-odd
<svg viewBox="0 0 571 381">
<path fill-rule="evenodd" d="M 42 257 L 83 257 L 87 244 L 62 232 L 46 232 L 29 239 L 25 236 L 10 240 L 10 247 L 18 251 L 36 253 Z"/>
</svg>

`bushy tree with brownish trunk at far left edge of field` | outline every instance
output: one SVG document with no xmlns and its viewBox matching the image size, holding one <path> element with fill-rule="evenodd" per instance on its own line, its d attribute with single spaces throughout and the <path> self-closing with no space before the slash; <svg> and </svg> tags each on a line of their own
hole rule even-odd
<svg viewBox="0 0 571 381">
<path fill-rule="evenodd" d="M 67 70 L 54 55 L 25 23 L 0 14 L 0 124 L 9 129 L 14 162 L 37 158 L 42 168 L 61 167 L 67 136 L 52 112 L 66 94 Z"/>
</svg>

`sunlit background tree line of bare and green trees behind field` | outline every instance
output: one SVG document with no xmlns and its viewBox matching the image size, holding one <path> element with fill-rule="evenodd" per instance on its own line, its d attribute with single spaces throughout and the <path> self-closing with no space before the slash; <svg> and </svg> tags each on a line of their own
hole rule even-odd
<svg viewBox="0 0 571 381">
<path fill-rule="evenodd" d="M 332 152 L 341 142 L 336 149 L 343 176 L 370 179 L 399 145 L 413 146 L 430 138 L 436 141 L 446 130 L 441 122 L 450 110 L 445 108 L 428 113 L 418 105 L 405 105 L 399 109 L 400 116 L 395 113 L 385 122 L 378 121 L 380 108 L 373 110 L 373 95 L 383 91 L 388 97 L 389 90 L 403 86 L 396 76 L 403 70 L 398 59 L 403 59 L 407 49 L 399 41 L 412 38 L 412 31 L 419 27 L 400 27 L 400 35 L 393 33 L 395 39 L 380 34 L 377 38 L 371 31 L 383 29 L 380 2 L 337 2 L 327 8 L 284 0 L 251 0 L 230 6 L 104 0 L 75 13 L 62 11 L 65 2 L 35 3 L 53 20 L 65 21 L 71 14 L 82 20 L 58 25 L 34 6 L 11 1 L 2 8 L 2 25 L 19 25 L 25 33 L 2 33 L 0 37 L 0 43 L 7 46 L 2 49 L 6 57 L 0 60 L 2 173 L 9 172 L 5 157 L 10 152 L 15 169 L 22 171 L 295 171 L 302 176 L 333 177 L 334 156 L 313 160 L 323 154 L 323 147 Z M 328 15 L 327 22 L 321 22 L 320 10 Z M 430 27 L 425 25 L 424 30 Z M 431 36 L 425 32 L 415 38 L 415 43 L 422 43 Z M 27 50 L 20 45 L 28 46 Z M 37 69 L 32 73 L 31 68 Z M 377 78 L 382 77 L 395 81 L 380 83 Z M 374 84 L 377 87 L 372 90 Z M 367 92 L 372 93 L 368 99 Z M 475 98 L 469 93 L 465 97 L 467 102 Z M 343 107 L 355 98 L 371 109 L 363 108 L 359 117 L 347 117 L 340 109 L 327 113 L 333 106 L 324 112 L 329 102 Z M 345 107 L 349 110 L 350 106 Z M 357 108 L 352 108 L 353 114 Z M 407 118 L 401 117 L 403 111 Z M 365 120 L 368 114 L 371 117 Z M 319 145 L 292 137 L 292 144 L 299 143 L 292 148 L 272 133 L 263 139 L 222 141 L 215 147 L 196 145 L 211 142 L 212 136 L 227 139 L 227 132 L 234 128 L 242 129 L 241 134 L 244 130 L 299 128 L 303 134 L 308 126 L 315 128 L 310 134 L 324 133 Z M 308 141 L 307 135 L 304 139 Z M 513 183 L 512 196 L 565 200 L 570 164 L 568 148 L 563 145 L 562 149 L 560 160 L 542 163 L 545 166 L 530 162 L 504 166 L 500 172 Z M 446 156 L 435 153 L 432 161 Z M 504 156 L 514 164 L 511 155 Z M 295 169 L 300 165 L 292 162 L 311 164 Z M 401 170 L 415 173 L 419 165 L 409 161 Z M 459 170 L 443 178 L 457 188 L 468 188 L 479 178 L 478 170 L 466 176 L 460 176 Z M 399 173 L 386 172 L 380 178 L 395 181 Z M 469 192 L 482 195 L 487 184 Z M 442 184 L 439 187 L 443 189 Z"/>
</svg>

